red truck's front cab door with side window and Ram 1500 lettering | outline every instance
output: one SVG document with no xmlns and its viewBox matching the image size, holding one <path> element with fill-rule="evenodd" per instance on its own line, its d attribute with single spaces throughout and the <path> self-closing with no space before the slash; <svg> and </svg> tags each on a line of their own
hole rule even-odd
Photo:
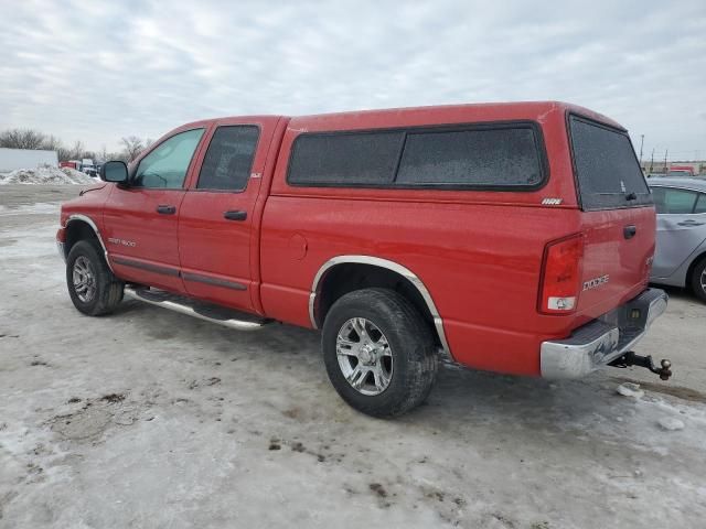
<svg viewBox="0 0 706 529">
<path fill-rule="evenodd" d="M 196 127 L 164 139 L 140 160 L 128 186 L 113 188 L 104 206 L 104 238 L 120 278 L 183 291 L 178 219 L 204 130 Z"/>
</svg>

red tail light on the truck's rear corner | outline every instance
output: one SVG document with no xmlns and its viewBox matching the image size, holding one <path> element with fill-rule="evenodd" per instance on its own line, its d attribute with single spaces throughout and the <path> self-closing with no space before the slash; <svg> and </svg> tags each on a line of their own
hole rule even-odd
<svg viewBox="0 0 706 529">
<path fill-rule="evenodd" d="M 581 284 L 584 236 L 549 242 L 544 249 L 539 312 L 568 314 L 576 311 Z"/>
</svg>

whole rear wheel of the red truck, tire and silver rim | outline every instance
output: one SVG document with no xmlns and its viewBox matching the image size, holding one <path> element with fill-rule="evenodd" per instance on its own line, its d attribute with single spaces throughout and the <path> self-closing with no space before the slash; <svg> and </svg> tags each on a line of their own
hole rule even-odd
<svg viewBox="0 0 706 529">
<path fill-rule="evenodd" d="M 327 314 L 321 345 L 335 390 L 368 415 L 416 408 L 436 378 L 429 324 L 393 290 L 363 289 L 338 300 Z"/>
</svg>

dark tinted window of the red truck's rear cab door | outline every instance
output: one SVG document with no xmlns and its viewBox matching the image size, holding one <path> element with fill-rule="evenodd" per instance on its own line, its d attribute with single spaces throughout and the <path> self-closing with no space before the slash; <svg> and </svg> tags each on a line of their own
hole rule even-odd
<svg viewBox="0 0 706 529">
<path fill-rule="evenodd" d="M 243 191 L 247 187 L 259 129 L 252 125 L 218 127 L 199 174 L 199 190 Z"/>
</svg>

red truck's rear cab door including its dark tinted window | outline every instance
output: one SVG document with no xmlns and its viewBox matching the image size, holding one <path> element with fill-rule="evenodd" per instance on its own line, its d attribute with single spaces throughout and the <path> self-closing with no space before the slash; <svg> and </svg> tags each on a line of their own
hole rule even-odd
<svg viewBox="0 0 706 529">
<path fill-rule="evenodd" d="M 222 119 L 207 139 L 179 217 L 182 279 L 195 298 L 253 310 L 255 204 L 277 120 Z"/>
</svg>

